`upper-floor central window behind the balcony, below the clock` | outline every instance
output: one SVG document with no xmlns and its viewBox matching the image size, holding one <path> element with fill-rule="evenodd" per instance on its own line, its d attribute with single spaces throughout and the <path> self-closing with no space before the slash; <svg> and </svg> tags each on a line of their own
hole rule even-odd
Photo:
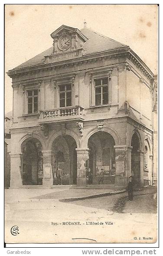
<svg viewBox="0 0 163 256">
<path fill-rule="evenodd" d="M 72 106 L 72 85 L 59 85 L 59 106 Z"/>
</svg>

